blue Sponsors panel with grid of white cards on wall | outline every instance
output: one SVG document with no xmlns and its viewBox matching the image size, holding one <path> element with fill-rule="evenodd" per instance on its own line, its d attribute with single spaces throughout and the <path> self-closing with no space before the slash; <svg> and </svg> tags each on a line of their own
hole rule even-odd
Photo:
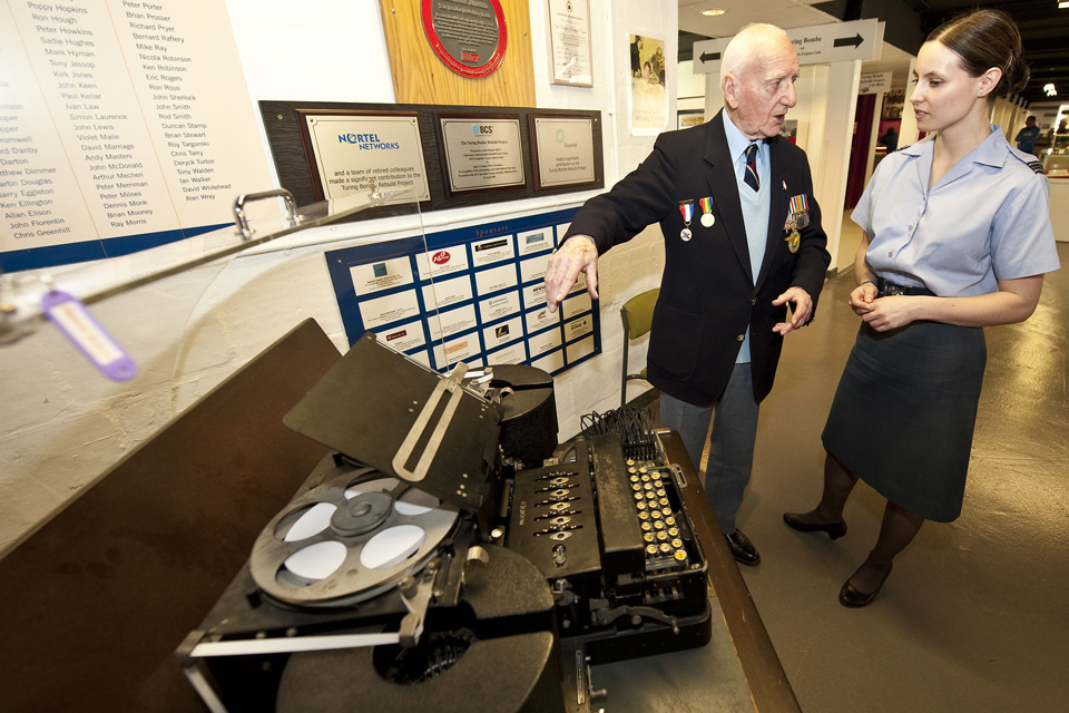
<svg viewBox="0 0 1069 713">
<path fill-rule="evenodd" d="M 459 361 L 537 362 L 559 373 L 600 353 L 600 313 L 589 297 L 585 302 L 577 294 L 569 306 L 581 304 L 571 312 L 582 316 L 565 321 L 560 312 L 549 312 L 540 286 L 555 231 L 575 213 L 555 211 L 325 253 L 350 344 L 374 331 L 439 371 Z"/>
</svg>

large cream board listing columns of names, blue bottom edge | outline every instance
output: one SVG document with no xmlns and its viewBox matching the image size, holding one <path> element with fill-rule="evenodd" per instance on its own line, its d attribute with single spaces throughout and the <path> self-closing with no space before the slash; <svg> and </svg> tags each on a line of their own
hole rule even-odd
<svg viewBox="0 0 1069 713">
<path fill-rule="evenodd" d="M 0 3 L 0 264 L 180 240 L 271 185 L 222 1 Z"/>
</svg>

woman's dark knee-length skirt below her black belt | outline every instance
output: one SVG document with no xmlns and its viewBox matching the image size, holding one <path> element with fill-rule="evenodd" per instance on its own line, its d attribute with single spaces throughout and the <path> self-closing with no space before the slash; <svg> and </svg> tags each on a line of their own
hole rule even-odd
<svg viewBox="0 0 1069 713">
<path fill-rule="evenodd" d="M 883 497 L 929 520 L 961 514 L 983 330 L 914 322 L 862 324 L 824 426 L 824 448 Z"/>
</svg>

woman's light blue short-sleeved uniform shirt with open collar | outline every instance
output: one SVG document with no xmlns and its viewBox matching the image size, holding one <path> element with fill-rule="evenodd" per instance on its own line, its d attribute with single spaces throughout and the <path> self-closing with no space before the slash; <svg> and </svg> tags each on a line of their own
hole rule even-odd
<svg viewBox="0 0 1069 713">
<path fill-rule="evenodd" d="M 889 154 L 851 216 L 869 234 L 865 262 L 884 280 L 939 296 L 997 292 L 999 280 L 1058 270 L 1050 185 L 997 125 L 929 188 L 934 143 Z"/>
</svg>

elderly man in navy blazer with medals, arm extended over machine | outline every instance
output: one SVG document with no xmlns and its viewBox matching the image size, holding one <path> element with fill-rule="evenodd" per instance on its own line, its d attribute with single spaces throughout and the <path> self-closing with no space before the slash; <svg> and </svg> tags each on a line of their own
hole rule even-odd
<svg viewBox="0 0 1069 713">
<path fill-rule="evenodd" d="M 665 273 L 647 374 L 661 392 L 661 423 L 680 433 L 696 468 L 712 421 L 706 494 L 744 565 L 761 560 L 735 527 L 758 403 L 783 336 L 813 318 L 830 262 L 805 154 L 778 138 L 797 77 L 783 30 L 743 29 L 722 60 L 724 110 L 661 134 L 636 170 L 576 214 L 546 271 L 550 310 L 580 272 L 597 299 L 598 255 L 660 224 Z"/>
</svg>

